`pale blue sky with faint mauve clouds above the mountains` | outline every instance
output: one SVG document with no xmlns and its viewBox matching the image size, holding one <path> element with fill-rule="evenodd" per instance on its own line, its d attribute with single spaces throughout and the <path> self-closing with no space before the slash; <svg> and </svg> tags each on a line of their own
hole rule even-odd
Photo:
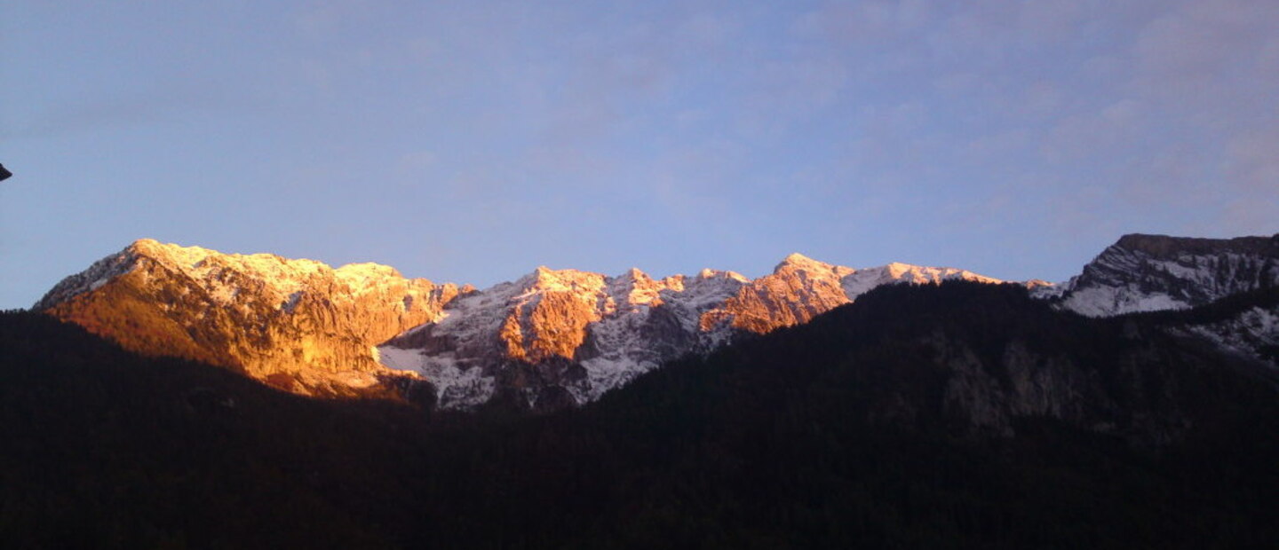
<svg viewBox="0 0 1279 550">
<path fill-rule="evenodd" d="M 1274 0 L 0 4 L 0 309 L 136 239 L 486 287 L 1279 232 Z"/>
</svg>

